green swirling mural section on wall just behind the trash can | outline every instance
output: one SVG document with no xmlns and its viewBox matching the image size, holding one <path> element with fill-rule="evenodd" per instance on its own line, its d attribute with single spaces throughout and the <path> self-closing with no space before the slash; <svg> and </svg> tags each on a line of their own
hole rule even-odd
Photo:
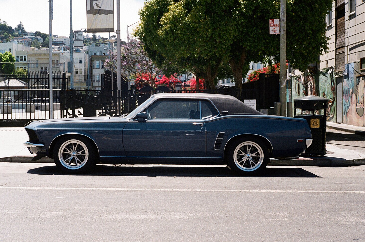
<svg viewBox="0 0 365 242">
<path fill-rule="evenodd" d="M 319 96 L 328 99 L 327 121 L 336 122 L 336 84 L 332 73 L 319 73 Z"/>
</svg>

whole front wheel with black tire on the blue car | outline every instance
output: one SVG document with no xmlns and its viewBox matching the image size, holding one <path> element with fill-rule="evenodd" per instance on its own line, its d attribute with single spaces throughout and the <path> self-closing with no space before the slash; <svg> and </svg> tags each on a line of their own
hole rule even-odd
<svg viewBox="0 0 365 242">
<path fill-rule="evenodd" d="M 95 144 L 81 135 L 59 139 L 53 149 L 53 159 L 56 166 L 68 174 L 90 172 L 99 162 Z"/>
</svg>

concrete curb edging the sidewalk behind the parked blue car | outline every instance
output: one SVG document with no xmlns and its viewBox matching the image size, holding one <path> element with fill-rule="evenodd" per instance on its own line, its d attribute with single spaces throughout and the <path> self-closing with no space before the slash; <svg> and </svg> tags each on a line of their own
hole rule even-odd
<svg viewBox="0 0 365 242">
<path fill-rule="evenodd" d="M 11 156 L 0 158 L 0 162 L 18 163 L 54 163 L 53 159 L 43 157 L 38 161 L 32 161 L 32 156 Z M 296 160 L 276 160 L 270 159 L 270 165 L 275 166 L 356 166 L 365 165 L 365 158 L 346 160 L 342 158 L 299 158 Z"/>
</svg>

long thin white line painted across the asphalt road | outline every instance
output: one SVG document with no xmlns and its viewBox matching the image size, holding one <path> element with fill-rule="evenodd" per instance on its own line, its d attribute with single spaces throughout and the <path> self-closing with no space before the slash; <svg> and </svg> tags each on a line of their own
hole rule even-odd
<svg viewBox="0 0 365 242">
<path fill-rule="evenodd" d="M 3 189 L 87 190 L 87 191 L 167 191 L 167 192 L 289 192 L 289 193 L 365 193 L 365 191 L 331 190 L 234 190 L 234 189 L 174 189 L 174 188 L 93 188 L 93 187 L 0 187 Z"/>
</svg>

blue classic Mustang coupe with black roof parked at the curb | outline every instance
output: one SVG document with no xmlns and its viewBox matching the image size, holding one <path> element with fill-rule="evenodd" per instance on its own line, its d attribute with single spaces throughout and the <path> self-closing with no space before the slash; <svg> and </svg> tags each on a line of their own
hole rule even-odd
<svg viewBox="0 0 365 242">
<path fill-rule="evenodd" d="M 66 173 L 95 164 L 226 164 L 260 173 L 312 143 L 304 119 L 264 115 L 228 95 L 163 93 L 128 115 L 32 121 L 24 145 Z"/>
</svg>

